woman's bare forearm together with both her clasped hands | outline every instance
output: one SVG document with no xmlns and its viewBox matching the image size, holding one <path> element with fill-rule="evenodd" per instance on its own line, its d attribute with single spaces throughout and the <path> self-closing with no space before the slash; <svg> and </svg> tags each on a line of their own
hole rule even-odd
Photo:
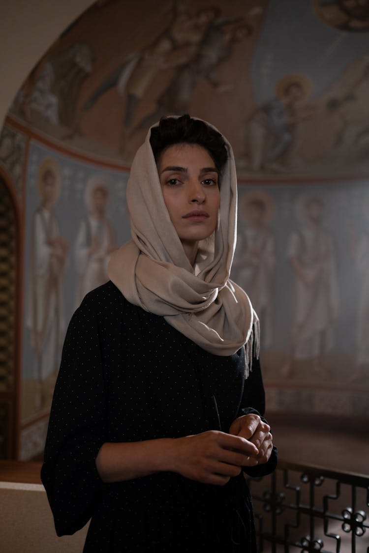
<svg viewBox="0 0 369 553">
<path fill-rule="evenodd" d="M 180 438 L 106 442 L 96 457 L 96 468 L 103 482 L 169 471 L 224 486 L 242 467 L 267 462 L 271 451 L 269 426 L 258 415 L 245 415 L 232 423 L 230 434 L 209 430 Z"/>
</svg>

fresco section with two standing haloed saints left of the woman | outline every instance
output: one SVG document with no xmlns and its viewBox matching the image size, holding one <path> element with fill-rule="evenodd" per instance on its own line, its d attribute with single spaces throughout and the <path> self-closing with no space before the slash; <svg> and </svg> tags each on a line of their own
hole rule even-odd
<svg viewBox="0 0 369 553">
<path fill-rule="evenodd" d="M 128 173 L 30 143 L 25 220 L 23 413 L 47 413 L 66 325 L 129 238 Z M 117 229 L 117 231 L 115 230 Z"/>
</svg>

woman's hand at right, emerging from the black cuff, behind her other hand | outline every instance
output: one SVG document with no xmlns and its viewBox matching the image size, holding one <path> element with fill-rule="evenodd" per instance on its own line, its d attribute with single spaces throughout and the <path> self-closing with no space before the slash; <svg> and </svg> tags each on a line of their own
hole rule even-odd
<svg viewBox="0 0 369 553">
<path fill-rule="evenodd" d="M 250 441 L 257 448 L 257 453 L 250 457 L 250 461 L 243 463 L 243 466 L 252 467 L 262 465 L 269 460 L 273 450 L 273 436 L 270 426 L 261 420 L 259 415 L 243 415 L 234 420 L 230 427 L 230 434 L 241 436 Z"/>
</svg>

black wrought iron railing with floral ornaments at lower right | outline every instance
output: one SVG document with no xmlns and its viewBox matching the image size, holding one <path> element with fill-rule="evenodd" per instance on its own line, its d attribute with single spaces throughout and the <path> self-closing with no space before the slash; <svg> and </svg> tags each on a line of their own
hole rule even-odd
<svg viewBox="0 0 369 553">
<path fill-rule="evenodd" d="M 369 553 L 369 476 L 279 461 L 248 484 L 261 553 Z"/>
</svg>

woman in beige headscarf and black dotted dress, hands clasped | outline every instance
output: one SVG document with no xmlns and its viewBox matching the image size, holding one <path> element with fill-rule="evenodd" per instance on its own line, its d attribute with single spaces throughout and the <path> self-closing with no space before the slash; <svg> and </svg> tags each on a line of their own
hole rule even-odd
<svg viewBox="0 0 369 553">
<path fill-rule="evenodd" d="M 236 186 L 230 145 L 189 116 L 133 161 L 132 241 L 72 318 L 41 474 L 58 535 L 92 517 L 85 552 L 256 552 L 242 470 L 276 451 L 257 317 L 228 280 Z"/>
</svg>

